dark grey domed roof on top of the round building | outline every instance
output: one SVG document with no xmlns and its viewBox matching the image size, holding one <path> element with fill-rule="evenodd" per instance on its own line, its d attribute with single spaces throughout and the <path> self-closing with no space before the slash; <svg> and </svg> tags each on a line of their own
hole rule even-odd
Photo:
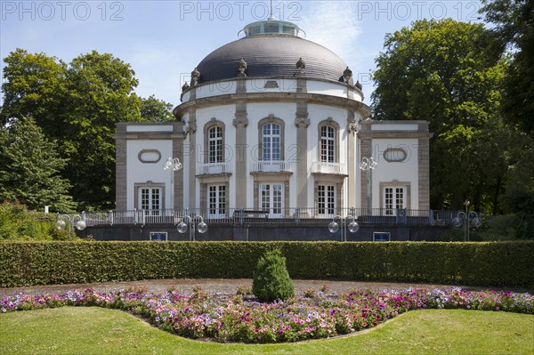
<svg viewBox="0 0 534 355">
<path fill-rule="evenodd" d="M 268 26 L 277 27 L 277 23 L 280 24 L 279 32 L 269 32 Z M 258 24 L 262 24 L 262 30 L 253 32 L 259 28 Z M 223 45 L 200 61 L 198 84 L 237 78 L 241 59 L 247 62 L 247 77 L 292 77 L 298 71 L 296 62 L 300 58 L 306 66 L 305 77 L 337 81 L 343 76 L 347 65 L 336 53 L 291 32 L 287 35 L 288 29 L 298 33 L 300 28 L 287 28 L 287 22 L 278 20 L 248 25 L 244 28 L 247 36 Z"/>
</svg>

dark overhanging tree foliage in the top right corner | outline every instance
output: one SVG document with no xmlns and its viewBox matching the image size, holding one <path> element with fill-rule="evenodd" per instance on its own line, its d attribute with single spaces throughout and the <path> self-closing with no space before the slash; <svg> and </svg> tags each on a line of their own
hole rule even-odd
<svg viewBox="0 0 534 355">
<path fill-rule="evenodd" d="M 501 49 L 513 50 L 507 69 L 502 114 L 510 122 L 534 132 L 534 2 L 530 0 L 482 0 L 485 19 L 496 24 L 492 31 Z"/>
</svg>

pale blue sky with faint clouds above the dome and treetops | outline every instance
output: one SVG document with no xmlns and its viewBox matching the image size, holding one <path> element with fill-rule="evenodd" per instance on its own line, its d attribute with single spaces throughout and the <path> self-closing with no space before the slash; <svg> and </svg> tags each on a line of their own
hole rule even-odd
<svg viewBox="0 0 534 355">
<path fill-rule="evenodd" d="M 273 15 L 302 28 L 306 39 L 336 52 L 364 85 L 384 36 L 413 20 L 477 21 L 479 1 L 277 1 Z M 22 48 L 69 62 L 110 52 L 129 63 L 142 97 L 180 103 L 181 87 L 209 52 L 239 39 L 241 28 L 269 16 L 270 1 L 0 0 L 0 56 Z M 2 62 L 4 69 L 4 62 Z M 1 95 L 1 94 L 0 94 Z M 0 101 L 3 95 L 0 96 Z"/>
</svg>

